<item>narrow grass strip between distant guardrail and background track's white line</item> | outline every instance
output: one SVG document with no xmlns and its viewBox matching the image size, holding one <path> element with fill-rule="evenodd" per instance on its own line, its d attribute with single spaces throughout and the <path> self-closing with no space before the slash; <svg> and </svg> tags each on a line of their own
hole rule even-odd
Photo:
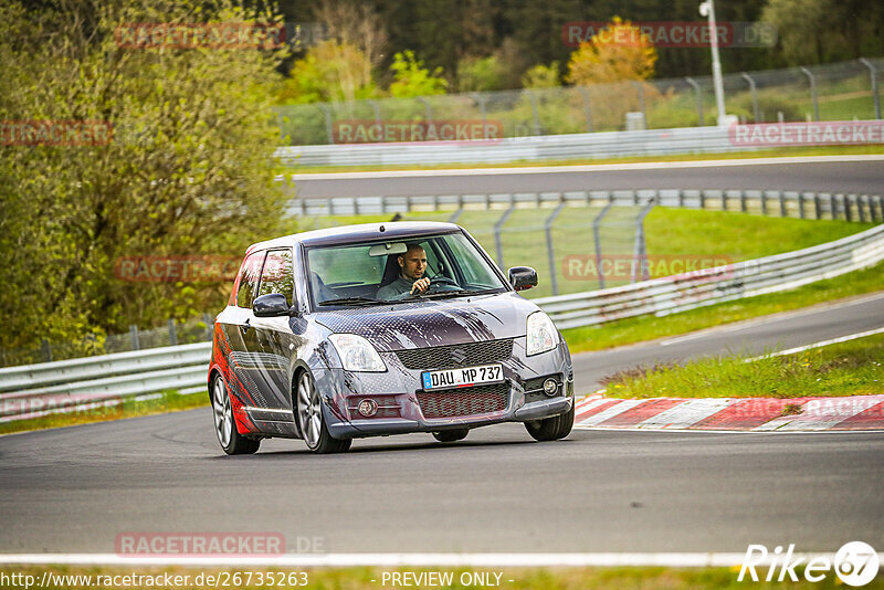
<svg viewBox="0 0 884 590">
<path fill-rule="evenodd" d="M 627 158 L 575 158 L 562 160 L 518 160 L 503 164 L 441 164 L 441 165 L 387 165 L 387 166 L 280 166 L 277 173 L 305 175 L 312 172 L 369 172 L 383 170 L 452 170 L 462 168 L 532 168 L 540 166 L 581 166 L 593 164 L 636 164 L 656 161 L 744 160 L 749 158 L 788 158 L 807 156 L 855 156 L 884 154 L 884 146 L 820 146 L 761 149 L 758 151 L 732 151 L 725 154 L 683 154 L 677 156 L 633 156 Z"/>
</svg>

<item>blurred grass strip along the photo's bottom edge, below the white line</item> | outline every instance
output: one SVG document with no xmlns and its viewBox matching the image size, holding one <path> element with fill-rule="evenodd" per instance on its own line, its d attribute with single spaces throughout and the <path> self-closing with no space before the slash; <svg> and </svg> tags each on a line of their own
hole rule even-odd
<svg viewBox="0 0 884 590">
<path fill-rule="evenodd" d="M 412 568 L 412 569 L 401 569 L 401 568 L 390 568 L 390 569 L 381 569 L 381 568 L 341 568 L 341 569 L 303 569 L 303 570 L 291 570 L 291 569 L 276 569 L 276 568 L 251 568 L 250 570 L 236 569 L 236 568 L 183 568 L 183 567 L 168 567 L 168 568 L 123 568 L 123 567 L 61 567 L 61 566 L 49 566 L 49 567 L 23 567 L 15 570 L 11 570 L 9 568 L 3 568 L 0 570 L 0 578 L 6 575 L 9 576 L 10 573 L 22 573 L 24 576 L 31 576 L 31 581 L 35 584 L 42 580 L 44 572 L 51 572 L 53 576 L 50 579 L 60 579 L 57 576 L 90 576 L 92 581 L 97 580 L 97 577 L 114 577 L 114 576 L 127 576 L 127 575 L 139 575 L 144 577 L 152 576 L 159 577 L 159 580 L 162 580 L 162 576 L 165 573 L 169 573 L 170 576 L 188 576 L 189 583 L 176 584 L 173 587 L 164 586 L 164 582 L 160 581 L 156 584 L 149 584 L 147 581 L 141 581 L 140 583 L 135 584 L 127 584 L 127 588 L 214 588 L 214 586 L 210 586 L 208 583 L 196 584 L 193 581 L 197 579 L 198 576 L 202 575 L 202 580 L 207 579 L 207 576 L 214 576 L 214 580 L 223 580 L 232 581 L 234 579 L 240 580 L 240 583 L 235 584 L 236 588 L 266 588 L 266 586 L 257 586 L 255 583 L 245 583 L 245 579 L 251 575 L 252 580 L 257 579 L 257 573 L 263 572 L 266 579 L 276 579 L 285 578 L 287 579 L 288 573 L 294 571 L 303 571 L 306 573 L 307 583 L 302 584 L 301 588 L 315 588 L 315 589 L 347 589 L 347 590 L 376 590 L 378 588 L 390 588 L 393 586 L 401 586 L 401 584 L 393 584 L 391 583 L 390 579 L 388 578 L 387 583 L 382 583 L 382 576 L 385 572 L 408 572 L 413 576 L 420 576 L 421 572 L 436 572 L 436 573 L 448 573 L 451 572 L 452 575 L 452 584 L 445 584 L 444 588 L 451 589 L 466 589 L 466 588 L 482 588 L 485 584 L 482 583 L 471 583 L 467 584 L 470 580 L 464 577 L 463 581 L 461 576 L 470 576 L 474 572 L 477 573 L 491 573 L 491 580 L 495 581 L 494 573 L 501 573 L 501 581 L 499 587 L 508 588 L 512 590 L 524 590 L 524 589 L 539 589 L 543 588 L 545 590 L 586 590 L 586 589 L 615 589 L 620 590 L 623 588 L 640 588 L 640 589 L 648 589 L 648 590 L 682 590 L 682 589 L 744 589 L 744 588 L 764 588 L 764 589 L 775 589 L 775 588 L 790 588 L 790 589 L 814 589 L 814 590 L 823 590 L 829 588 L 843 588 L 843 584 L 840 583 L 840 580 L 835 577 L 833 571 L 825 572 L 825 577 L 820 582 L 808 582 L 803 576 L 803 568 L 796 568 L 796 573 L 799 577 L 798 582 L 751 582 L 747 580 L 743 582 L 737 581 L 737 577 L 739 576 L 739 568 L 696 568 L 696 569 L 678 569 L 678 568 L 662 568 L 662 567 L 648 567 L 648 568 L 627 568 L 627 567 L 618 567 L 618 568 L 507 568 L 507 569 L 494 569 L 494 568 L 477 568 L 477 569 L 461 569 L 461 568 L 436 568 L 436 569 L 427 569 L 427 568 Z M 767 568 L 757 568 L 757 573 L 759 579 L 764 579 L 767 575 Z M 267 576 L 271 573 L 271 576 Z M 777 575 L 779 571 L 776 572 Z M 818 572 L 819 573 L 819 572 Z M 235 577 L 235 578 L 234 578 Z M 64 578 L 61 578 L 64 579 Z M 85 578 L 80 578 L 80 580 L 84 580 Z M 776 576 L 775 576 L 776 579 Z M 69 580 L 72 580 L 69 578 Z M 143 579 L 144 580 L 144 579 Z M 512 581 L 511 581 L 512 580 Z M 78 588 L 85 587 L 86 584 L 82 581 L 80 583 L 74 583 L 73 581 L 69 581 L 64 586 L 60 584 L 49 584 L 43 587 L 44 589 L 49 588 Z M 101 584 L 93 584 L 93 586 L 101 586 Z M 290 586 L 288 583 L 282 584 L 273 584 L 274 588 L 293 588 L 294 586 Z M 433 588 L 436 587 L 435 584 L 417 584 L 413 586 L 418 588 Z M 490 586 L 497 586 L 497 583 L 491 583 Z M 20 586 L 3 586 L 3 588 L 23 588 L 23 583 Z M 120 586 L 117 584 L 106 584 L 107 588 L 116 587 L 119 588 Z M 884 577 L 878 576 L 872 582 L 870 582 L 864 588 L 867 589 L 881 589 L 884 588 Z"/>
</svg>

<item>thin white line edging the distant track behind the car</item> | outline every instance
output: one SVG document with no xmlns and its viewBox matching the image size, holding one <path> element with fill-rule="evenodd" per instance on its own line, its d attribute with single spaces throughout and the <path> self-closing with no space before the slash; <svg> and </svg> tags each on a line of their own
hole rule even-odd
<svg viewBox="0 0 884 590">
<path fill-rule="evenodd" d="M 440 170 L 377 170 L 364 172 L 315 172 L 292 175 L 297 180 L 350 180 L 368 178 L 408 178 L 440 176 L 493 176 L 493 175 L 548 175 L 568 172 L 619 172 L 628 170 L 660 170 L 672 168 L 718 168 L 722 166 L 769 166 L 783 164 L 840 164 L 881 161 L 884 155 L 812 156 L 790 158 L 740 158 L 728 160 L 650 161 L 633 164 L 587 164 L 577 166 L 522 166 L 514 168 L 445 168 Z"/>
</svg>

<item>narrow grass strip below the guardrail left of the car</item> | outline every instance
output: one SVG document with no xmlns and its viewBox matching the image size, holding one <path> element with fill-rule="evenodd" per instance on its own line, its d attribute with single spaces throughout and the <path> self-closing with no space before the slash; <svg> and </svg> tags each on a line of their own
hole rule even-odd
<svg viewBox="0 0 884 590">
<path fill-rule="evenodd" d="M 162 414 L 180 410 L 190 410 L 191 408 L 200 408 L 208 404 L 209 396 L 206 392 L 181 396 L 175 391 L 164 391 L 160 393 L 159 398 L 151 400 L 125 400 L 117 405 L 96 408 L 94 410 L 72 411 L 29 420 L 2 422 L 0 423 L 0 434 L 73 426 L 76 424 L 91 424 L 94 422 L 106 422 L 108 420 L 135 418 L 138 415 Z"/>
</svg>

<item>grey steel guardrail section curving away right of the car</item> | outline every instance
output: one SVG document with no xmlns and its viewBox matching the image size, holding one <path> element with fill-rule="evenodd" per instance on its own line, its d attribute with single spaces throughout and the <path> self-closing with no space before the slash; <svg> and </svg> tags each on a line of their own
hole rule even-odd
<svg viewBox="0 0 884 590">
<path fill-rule="evenodd" d="M 534 299 L 560 329 L 645 314 L 664 316 L 786 291 L 884 260 L 884 225 L 828 244 L 684 275 Z"/>
</svg>

